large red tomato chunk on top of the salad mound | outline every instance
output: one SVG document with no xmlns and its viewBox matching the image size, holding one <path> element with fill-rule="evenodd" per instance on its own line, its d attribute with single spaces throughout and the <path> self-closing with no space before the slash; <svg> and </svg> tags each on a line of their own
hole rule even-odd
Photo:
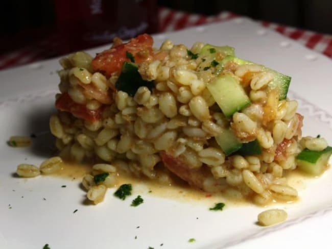
<svg viewBox="0 0 332 249">
<path fill-rule="evenodd" d="M 98 54 L 91 62 L 92 67 L 105 73 L 106 77 L 110 77 L 113 72 L 121 70 L 126 58 L 126 52 L 131 53 L 135 58 L 135 63 L 141 63 L 151 60 L 153 57 L 153 39 L 148 34 L 139 35 L 132 38 L 127 43 L 122 43 L 111 47 Z"/>
</svg>

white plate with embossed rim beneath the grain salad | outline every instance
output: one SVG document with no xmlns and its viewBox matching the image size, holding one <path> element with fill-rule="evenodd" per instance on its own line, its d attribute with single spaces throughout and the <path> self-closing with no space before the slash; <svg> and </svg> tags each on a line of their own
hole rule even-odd
<svg viewBox="0 0 332 249">
<path fill-rule="evenodd" d="M 292 76 L 289 98 L 297 99 L 304 115 L 303 135 L 320 134 L 332 144 L 330 59 L 247 18 L 154 36 L 188 47 L 195 41 L 235 47 L 238 57 Z M 91 55 L 105 47 L 90 49 Z M 105 201 L 85 205 L 79 181 L 54 177 L 16 178 L 19 163 L 39 165 L 49 156 L 48 120 L 54 108 L 60 69 L 58 59 L 0 72 L 0 248 L 224 248 L 249 246 L 308 248 L 329 241 L 332 228 L 332 170 L 320 178 L 294 181 L 300 200 L 273 207 L 286 209 L 288 221 L 269 228 L 256 225 L 265 208 L 228 205 L 222 212 L 211 203 L 159 197 L 144 187 L 134 191 L 144 204 L 130 207 L 108 190 Z M 38 133 L 29 148 L 6 144 L 11 135 Z M 51 139 L 52 140 L 52 139 Z M 62 188 L 62 185 L 66 185 Z M 135 190 L 135 186 L 134 190 Z M 133 196 L 134 196 L 133 195 Z M 44 200 L 45 199 L 45 200 Z M 74 210 L 78 210 L 74 213 Z M 135 238 L 136 237 L 136 238 Z M 188 239 L 195 238 L 195 242 Z M 273 243 L 271 243 L 273 241 Z"/>
</svg>

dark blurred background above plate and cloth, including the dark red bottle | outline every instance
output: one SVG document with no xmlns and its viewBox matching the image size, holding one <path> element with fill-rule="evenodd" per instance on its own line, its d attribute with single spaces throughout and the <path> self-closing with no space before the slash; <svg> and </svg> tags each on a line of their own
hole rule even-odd
<svg viewBox="0 0 332 249">
<path fill-rule="evenodd" d="M 164 7 L 203 16 L 228 11 L 332 34 L 331 0 L 11 0 L 2 1 L 0 10 L 0 57 L 26 48 L 52 58 L 110 43 L 114 36 L 157 33 L 163 31 L 158 15 Z"/>
</svg>

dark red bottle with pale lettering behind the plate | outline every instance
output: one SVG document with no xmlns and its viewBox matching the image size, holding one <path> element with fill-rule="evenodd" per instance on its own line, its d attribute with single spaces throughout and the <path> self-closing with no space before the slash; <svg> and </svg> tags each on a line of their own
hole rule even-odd
<svg viewBox="0 0 332 249">
<path fill-rule="evenodd" d="M 154 0 L 54 0 L 61 54 L 158 31 Z"/>
</svg>

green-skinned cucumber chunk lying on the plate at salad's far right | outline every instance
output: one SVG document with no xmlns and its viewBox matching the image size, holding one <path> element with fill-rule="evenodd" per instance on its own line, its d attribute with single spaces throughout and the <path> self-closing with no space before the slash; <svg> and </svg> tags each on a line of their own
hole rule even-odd
<svg viewBox="0 0 332 249">
<path fill-rule="evenodd" d="M 318 176 L 326 168 L 331 154 L 332 147 L 330 146 L 319 152 L 310 151 L 305 148 L 299 155 L 297 155 L 296 163 L 304 172 Z"/>
</svg>

